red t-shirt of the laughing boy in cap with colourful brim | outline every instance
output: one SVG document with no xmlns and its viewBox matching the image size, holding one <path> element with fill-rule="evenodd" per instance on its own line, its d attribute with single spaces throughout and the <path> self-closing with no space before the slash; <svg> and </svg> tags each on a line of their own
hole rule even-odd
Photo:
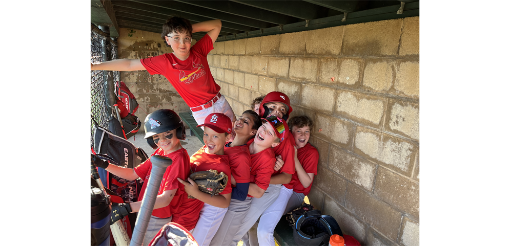
<svg viewBox="0 0 510 246">
<path fill-rule="evenodd" d="M 250 146 L 252 143 L 253 139 L 249 140 L 247 145 Z M 273 149 L 267 148 L 256 154 L 250 154 L 250 158 L 250 183 L 256 184 L 262 190 L 268 189 L 276 161 Z"/>
</svg>

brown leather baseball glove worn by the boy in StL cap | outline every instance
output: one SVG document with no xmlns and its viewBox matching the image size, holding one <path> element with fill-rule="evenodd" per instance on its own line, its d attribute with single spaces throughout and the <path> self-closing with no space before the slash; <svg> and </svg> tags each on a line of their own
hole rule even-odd
<svg viewBox="0 0 510 246">
<path fill-rule="evenodd" d="M 215 194 L 219 194 L 227 186 L 229 177 L 225 173 L 216 170 L 199 171 L 194 172 L 190 175 L 190 178 L 195 181 L 198 185 L 198 189 L 201 192 L 211 194 L 211 197 Z M 195 199 L 195 197 L 188 195 L 188 198 Z"/>
</svg>

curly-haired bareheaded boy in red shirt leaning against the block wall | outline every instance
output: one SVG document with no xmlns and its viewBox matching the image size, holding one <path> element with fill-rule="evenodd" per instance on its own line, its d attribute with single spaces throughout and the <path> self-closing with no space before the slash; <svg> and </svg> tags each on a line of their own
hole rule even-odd
<svg viewBox="0 0 510 246">
<path fill-rule="evenodd" d="M 289 120 L 289 128 L 294 136 L 297 149 L 296 172 L 292 175 L 292 181 L 283 185 L 288 189 L 293 189 L 285 212 L 292 211 L 303 204 L 304 196 L 310 193 L 314 176 L 317 175 L 319 151 L 308 142 L 312 126 L 313 121 L 307 116 L 293 117 Z"/>
</svg>

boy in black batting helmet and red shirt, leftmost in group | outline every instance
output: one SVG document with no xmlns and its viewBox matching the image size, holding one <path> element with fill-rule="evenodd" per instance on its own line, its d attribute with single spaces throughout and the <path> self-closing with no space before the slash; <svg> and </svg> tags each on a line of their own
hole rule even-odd
<svg viewBox="0 0 510 246">
<path fill-rule="evenodd" d="M 147 143 L 152 148 L 157 148 L 152 155 L 161 155 L 172 159 L 172 165 L 165 171 L 159 186 L 156 203 L 143 242 L 143 245 L 146 246 L 156 233 L 172 220 L 173 214 L 181 206 L 183 199 L 187 197 L 184 186 L 177 179 L 186 178 L 190 175 L 190 163 L 188 152 L 185 148 L 182 148 L 179 141 L 186 138 L 185 127 L 174 111 L 159 109 L 147 115 L 144 127 Z M 119 211 L 123 211 L 121 212 L 123 215 L 138 212 L 149 183 L 148 180 L 152 170 L 151 160 L 147 159 L 134 169 L 109 165 L 107 162 L 101 161 L 96 162 L 96 165 L 126 180 L 136 180 L 140 177 L 144 181 L 138 196 L 138 202 L 115 206 Z"/>
</svg>

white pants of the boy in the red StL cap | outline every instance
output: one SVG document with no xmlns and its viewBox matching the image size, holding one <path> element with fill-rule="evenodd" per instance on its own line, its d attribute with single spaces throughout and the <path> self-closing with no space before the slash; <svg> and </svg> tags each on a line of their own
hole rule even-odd
<svg viewBox="0 0 510 246">
<path fill-rule="evenodd" d="M 195 238 L 198 245 L 207 246 L 218 231 L 219 226 L 228 208 L 218 208 L 209 204 L 203 204 L 200 210 L 200 217 L 193 228 L 191 235 Z"/>
</svg>

